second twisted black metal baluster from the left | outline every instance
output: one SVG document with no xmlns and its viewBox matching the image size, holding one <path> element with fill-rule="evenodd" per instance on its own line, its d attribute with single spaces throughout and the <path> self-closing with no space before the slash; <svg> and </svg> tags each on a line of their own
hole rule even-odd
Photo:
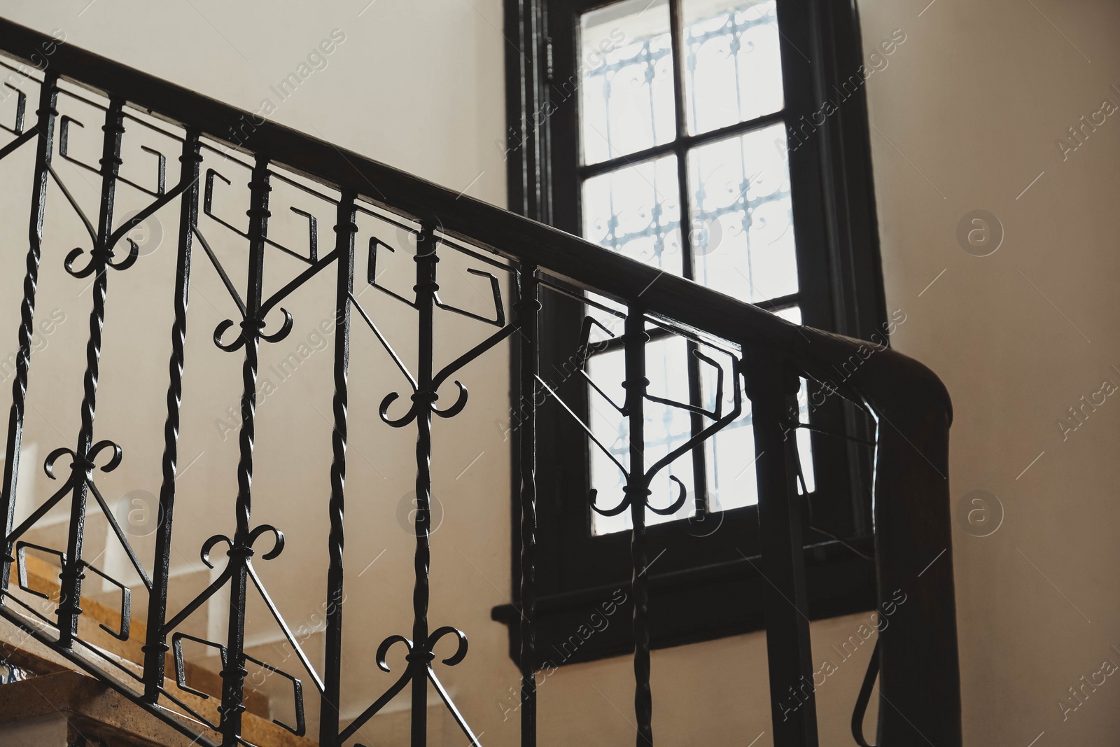
<svg viewBox="0 0 1120 747">
<path fill-rule="evenodd" d="M 109 293 L 109 264 L 113 258 L 110 237 L 113 233 L 113 204 L 116 197 L 116 176 L 121 168 L 121 140 L 124 136 L 124 100 L 111 97 L 105 111 L 105 133 L 101 155 L 101 209 L 97 217 L 97 241 L 90 258 L 88 271 L 94 273 L 93 308 L 90 310 L 90 340 L 85 347 L 85 379 L 82 399 L 82 427 L 73 469 L 84 471 L 74 482 L 71 503 L 69 536 L 66 541 L 66 562 L 59 575 L 58 645 L 69 648 L 77 635 L 77 619 L 82 614 L 82 543 L 85 534 L 85 504 L 90 493 L 93 460 L 93 419 L 97 412 L 97 377 L 101 371 L 101 333 L 105 324 L 105 297 Z M 76 250 L 75 250 L 76 251 Z M 74 252 L 71 253 L 74 256 Z"/>
</svg>

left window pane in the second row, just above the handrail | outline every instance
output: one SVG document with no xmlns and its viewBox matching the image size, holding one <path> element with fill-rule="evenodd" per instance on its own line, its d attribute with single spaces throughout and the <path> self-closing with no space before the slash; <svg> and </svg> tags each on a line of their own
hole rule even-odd
<svg viewBox="0 0 1120 747">
<path fill-rule="evenodd" d="M 665 156 L 584 183 L 584 237 L 681 274 L 676 157 Z"/>
</svg>

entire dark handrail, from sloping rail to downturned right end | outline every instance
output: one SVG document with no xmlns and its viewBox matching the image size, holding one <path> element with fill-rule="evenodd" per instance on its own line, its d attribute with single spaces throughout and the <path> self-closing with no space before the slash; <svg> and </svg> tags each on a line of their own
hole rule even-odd
<svg viewBox="0 0 1120 747">
<path fill-rule="evenodd" d="M 44 54 L 47 46 L 53 49 Z M 796 374 L 830 382 L 878 420 L 875 522 L 878 591 L 908 598 L 879 638 L 880 744 L 961 744 L 949 508 L 945 387 L 889 348 L 791 324 L 758 307 L 663 273 L 508 211 L 262 120 L 181 86 L 0 19 L 0 49 L 151 115 L 186 125 L 308 179 L 361 196 L 444 234 L 538 267 L 701 336 L 767 354 Z M 263 168 L 263 167 L 262 167 Z M 351 197 L 351 199 L 353 199 Z M 638 330 L 641 332 L 641 330 Z"/>
</svg>

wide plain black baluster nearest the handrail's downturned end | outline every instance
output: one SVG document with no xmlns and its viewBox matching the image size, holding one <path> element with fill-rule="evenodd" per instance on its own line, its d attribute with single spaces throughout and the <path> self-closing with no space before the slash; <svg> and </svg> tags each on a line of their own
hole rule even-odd
<svg viewBox="0 0 1120 747">
<path fill-rule="evenodd" d="M 796 468 L 782 420 L 796 405 L 797 376 L 771 351 L 744 351 L 758 475 L 758 532 L 766 581 L 766 653 L 774 747 L 816 747 L 805 551 Z M 806 687 L 808 683 L 808 687 Z"/>
</svg>

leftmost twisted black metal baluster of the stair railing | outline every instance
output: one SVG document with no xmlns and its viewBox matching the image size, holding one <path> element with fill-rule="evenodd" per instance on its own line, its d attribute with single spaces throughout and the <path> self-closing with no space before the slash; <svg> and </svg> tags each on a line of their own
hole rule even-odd
<svg viewBox="0 0 1120 747">
<path fill-rule="evenodd" d="M 39 259 L 43 255 L 43 222 L 47 207 L 47 178 L 54 153 L 55 118 L 58 112 L 58 76 L 48 74 L 39 90 L 38 142 L 35 149 L 35 181 L 31 192 L 31 217 L 28 226 L 27 274 L 24 277 L 24 302 L 20 306 L 19 352 L 16 354 L 16 380 L 11 385 L 11 414 L 8 417 L 8 446 L 4 451 L 3 485 L 0 485 L 0 505 L 4 515 L 4 543 L 0 559 L 0 601 L 8 591 L 11 563 L 15 560 L 11 534 L 16 516 L 16 486 L 19 483 L 19 448 L 24 438 L 24 409 L 27 402 L 27 374 L 31 366 L 31 335 L 35 328 L 35 296 L 39 283 Z"/>
</svg>

